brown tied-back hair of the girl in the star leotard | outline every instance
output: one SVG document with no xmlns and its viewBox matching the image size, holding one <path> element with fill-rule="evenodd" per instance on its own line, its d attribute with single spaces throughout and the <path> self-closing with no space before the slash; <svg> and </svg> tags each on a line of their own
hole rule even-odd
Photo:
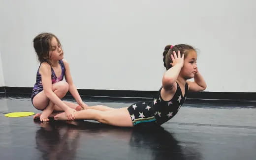
<svg viewBox="0 0 256 160">
<path fill-rule="evenodd" d="M 185 44 L 179 44 L 179 45 L 167 45 L 164 48 L 164 51 L 162 53 L 163 55 L 163 65 L 166 68 L 166 70 L 170 69 L 172 67 L 172 65 L 170 63 L 172 63 L 172 59 L 171 59 L 171 54 L 173 54 L 173 51 L 176 52 L 177 56 L 178 56 L 178 51 L 180 51 L 181 53 L 181 57 L 184 54 L 184 59 L 187 57 L 189 51 L 195 51 L 195 49 L 190 46 L 190 45 L 185 45 Z"/>
</svg>

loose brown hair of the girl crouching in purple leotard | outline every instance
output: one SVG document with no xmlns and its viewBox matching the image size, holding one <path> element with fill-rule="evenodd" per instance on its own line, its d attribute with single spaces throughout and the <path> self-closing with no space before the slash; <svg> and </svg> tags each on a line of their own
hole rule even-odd
<svg viewBox="0 0 256 160">
<path fill-rule="evenodd" d="M 47 62 L 51 65 L 49 53 L 51 51 L 51 40 L 53 37 L 61 45 L 60 40 L 52 33 L 40 33 L 33 39 L 34 50 L 41 63 Z"/>
</svg>

